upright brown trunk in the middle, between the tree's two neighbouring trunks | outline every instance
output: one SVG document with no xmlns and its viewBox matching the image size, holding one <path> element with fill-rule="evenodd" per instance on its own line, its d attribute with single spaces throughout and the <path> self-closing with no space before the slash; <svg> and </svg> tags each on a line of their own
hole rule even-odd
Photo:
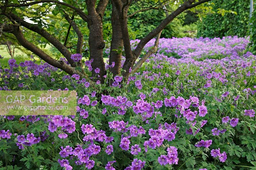
<svg viewBox="0 0 256 170">
<path fill-rule="evenodd" d="M 113 76 L 119 75 L 121 73 L 121 60 L 122 53 L 118 53 L 117 51 L 113 51 L 115 49 L 123 48 L 123 39 L 122 39 L 122 31 L 121 25 L 119 22 L 118 11 L 112 1 L 112 16 L 111 16 L 111 25 L 112 25 L 112 39 L 110 46 L 110 56 L 109 56 L 109 65 L 112 62 L 115 62 L 115 66 L 110 68 L 110 71 L 113 73 Z"/>
</svg>

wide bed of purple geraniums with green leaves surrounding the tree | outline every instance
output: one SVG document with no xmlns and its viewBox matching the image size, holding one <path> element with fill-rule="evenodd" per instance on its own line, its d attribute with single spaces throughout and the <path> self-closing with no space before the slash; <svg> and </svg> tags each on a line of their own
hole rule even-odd
<svg viewBox="0 0 256 170">
<path fill-rule="evenodd" d="M 255 169 L 256 56 L 248 43 L 160 39 L 127 81 L 107 65 L 104 84 L 9 60 L 1 90 L 76 90 L 77 113 L 1 116 L 1 169 Z M 91 62 L 82 62 L 87 72 Z"/>
</svg>

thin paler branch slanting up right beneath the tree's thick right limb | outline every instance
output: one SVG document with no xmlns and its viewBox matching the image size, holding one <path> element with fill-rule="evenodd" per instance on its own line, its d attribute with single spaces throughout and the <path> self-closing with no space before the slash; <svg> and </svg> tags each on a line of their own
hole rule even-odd
<svg viewBox="0 0 256 170">
<path fill-rule="evenodd" d="M 151 48 L 150 50 L 148 50 L 148 52 L 142 56 L 140 58 L 140 60 L 133 66 L 132 68 L 132 74 L 137 72 L 137 70 L 142 66 L 142 64 L 148 59 L 148 57 L 153 54 L 153 53 L 156 53 L 157 52 L 157 48 L 158 48 L 158 44 L 159 44 L 159 39 L 160 39 L 160 36 L 161 36 L 161 33 L 162 31 L 157 35 L 156 37 L 156 41 L 155 41 L 155 44 L 153 46 L 153 48 Z"/>
</svg>

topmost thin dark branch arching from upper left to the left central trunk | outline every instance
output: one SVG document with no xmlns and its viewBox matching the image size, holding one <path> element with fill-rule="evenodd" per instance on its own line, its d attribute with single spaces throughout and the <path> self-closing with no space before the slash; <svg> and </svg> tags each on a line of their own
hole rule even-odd
<svg viewBox="0 0 256 170">
<path fill-rule="evenodd" d="M 27 1 L 26 1 L 27 2 Z M 77 12 L 77 14 L 84 20 L 84 21 L 88 21 L 88 16 L 79 8 L 76 8 L 70 4 L 64 3 L 64 2 L 60 2 L 60 1 L 56 1 L 56 0 L 41 0 L 41 1 L 34 1 L 34 2 L 30 2 L 30 3 L 24 3 L 24 4 L 10 4 L 10 5 L 6 5 L 5 7 L 22 7 L 22 6 L 31 6 L 31 5 L 35 5 L 35 4 L 40 4 L 40 3 L 54 3 L 54 4 L 60 4 L 60 5 L 64 5 L 67 6 L 69 8 L 72 8 L 73 10 L 75 10 Z"/>
</svg>

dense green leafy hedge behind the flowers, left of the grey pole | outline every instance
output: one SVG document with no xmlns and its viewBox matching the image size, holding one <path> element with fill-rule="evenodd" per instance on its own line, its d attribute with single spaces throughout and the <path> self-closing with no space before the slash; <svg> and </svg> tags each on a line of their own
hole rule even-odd
<svg viewBox="0 0 256 170">
<path fill-rule="evenodd" d="M 215 4 L 212 9 L 214 12 L 199 22 L 198 37 L 214 38 L 228 35 L 244 37 L 248 35 L 249 0 L 214 0 L 212 2 Z"/>
</svg>

